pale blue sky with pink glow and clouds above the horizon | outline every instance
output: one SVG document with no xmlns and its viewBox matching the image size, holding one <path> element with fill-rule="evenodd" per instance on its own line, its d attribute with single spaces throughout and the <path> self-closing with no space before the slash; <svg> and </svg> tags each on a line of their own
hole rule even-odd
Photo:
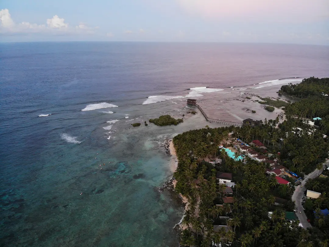
<svg viewBox="0 0 329 247">
<path fill-rule="evenodd" d="M 329 45 L 328 0 L 1 0 L 0 42 Z"/>
</svg>

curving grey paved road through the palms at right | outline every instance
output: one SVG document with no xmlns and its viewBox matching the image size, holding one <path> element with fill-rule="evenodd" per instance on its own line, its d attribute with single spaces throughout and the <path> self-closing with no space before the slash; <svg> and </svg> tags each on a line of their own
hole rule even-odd
<svg viewBox="0 0 329 247">
<path fill-rule="evenodd" d="M 329 161 L 327 161 L 326 163 L 323 164 L 324 165 L 328 165 L 329 164 Z M 318 176 L 318 174 L 321 174 L 321 172 L 323 171 L 323 169 L 321 170 L 314 170 L 313 172 L 311 172 L 310 174 L 308 174 L 304 181 L 302 181 L 301 185 L 300 186 L 295 186 L 295 191 L 291 197 L 291 200 L 292 201 L 295 201 L 295 204 L 296 204 L 296 207 L 298 208 L 298 210 L 296 210 L 296 214 L 297 214 L 297 217 L 299 219 L 299 222 L 303 225 L 303 228 L 306 229 L 308 227 L 311 227 L 311 224 L 307 222 L 307 217 L 304 213 L 304 210 L 303 210 L 303 207 L 302 207 L 302 197 L 304 195 L 304 192 L 306 190 L 305 188 L 305 183 L 306 183 L 306 180 L 309 179 L 309 178 L 315 178 Z M 303 187 L 301 187 L 303 186 Z M 299 213 L 299 211 L 301 213 Z"/>
</svg>

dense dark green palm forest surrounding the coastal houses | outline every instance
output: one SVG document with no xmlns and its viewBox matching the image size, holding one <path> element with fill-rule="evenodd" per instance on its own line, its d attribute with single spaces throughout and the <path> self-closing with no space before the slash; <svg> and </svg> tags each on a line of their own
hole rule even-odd
<svg viewBox="0 0 329 247">
<path fill-rule="evenodd" d="M 293 87 L 296 88 L 295 85 Z M 329 181 L 316 178 L 306 185 L 323 192 L 312 205 L 307 201 L 307 210 L 315 210 L 319 218 L 312 219 L 315 227 L 306 231 L 298 226 L 298 221 L 291 223 L 285 219 L 285 211 L 292 211 L 295 207 L 291 201 L 293 187 L 279 185 L 275 176 L 267 176 L 265 169 L 269 165 L 266 163 L 248 158 L 246 163 L 242 163 L 218 150 L 221 144 L 230 145 L 229 138 L 239 138 L 247 143 L 258 139 L 280 164 L 302 177 L 322 167 L 329 151 L 328 139 L 322 135 L 324 127 L 319 125 L 318 129 L 312 130 L 304 117 L 311 117 L 308 115 L 311 108 L 317 111 L 315 105 L 307 104 L 313 100 L 312 97 L 319 97 L 323 112 L 328 111 L 329 104 L 322 102 L 327 101 L 326 96 L 315 96 L 313 90 L 309 97 L 302 90 L 298 92 L 296 96 L 303 95 L 304 98 L 286 106 L 285 119 L 281 116 L 281 122 L 278 116 L 274 120 L 265 119 L 259 126 L 208 127 L 185 132 L 173 139 L 179 161 L 174 173 L 176 191 L 189 202 L 182 222 L 185 228 L 181 235 L 182 246 L 211 246 L 219 242 L 241 247 L 328 246 L 328 217 L 320 216 L 319 210 L 328 206 Z M 206 162 L 215 158 L 222 159 L 221 165 Z M 233 174 L 236 183 L 233 188 L 234 203 L 223 203 L 225 185 L 217 184 L 217 171 Z M 288 201 L 281 206 L 274 205 L 275 197 Z M 273 212 L 270 216 L 269 211 Z M 214 225 L 226 225 L 228 230 L 222 228 L 214 231 Z"/>
</svg>

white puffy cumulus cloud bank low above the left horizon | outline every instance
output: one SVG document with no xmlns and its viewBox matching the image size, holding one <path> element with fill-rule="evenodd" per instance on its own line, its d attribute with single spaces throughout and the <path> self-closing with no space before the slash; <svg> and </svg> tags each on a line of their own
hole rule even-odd
<svg viewBox="0 0 329 247">
<path fill-rule="evenodd" d="M 80 23 L 78 26 L 70 27 L 65 23 L 64 18 L 54 15 L 52 18 L 46 20 L 46 25 L 38 25 L 23 21 L 16 24 L 8 9 L 0 11 L 0 33 L 67 33 L 67 34 L 80 34 L 80 33 L 94 33 L 98 27 L 89 27 L 86 23 Z"/>
</svg>

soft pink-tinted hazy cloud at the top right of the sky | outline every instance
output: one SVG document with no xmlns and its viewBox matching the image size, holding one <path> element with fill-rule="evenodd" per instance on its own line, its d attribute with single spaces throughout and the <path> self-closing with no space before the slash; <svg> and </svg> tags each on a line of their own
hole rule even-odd
<svg viewBox="0 0 329 247">
<path fill-rule="evenodd" d="M 191 15 L 235 21 L 311 22 L 328 19 L 328 0 L 175 0 Z M 307 17 L 306 17 L 307 16 Z"/>
</svg>

